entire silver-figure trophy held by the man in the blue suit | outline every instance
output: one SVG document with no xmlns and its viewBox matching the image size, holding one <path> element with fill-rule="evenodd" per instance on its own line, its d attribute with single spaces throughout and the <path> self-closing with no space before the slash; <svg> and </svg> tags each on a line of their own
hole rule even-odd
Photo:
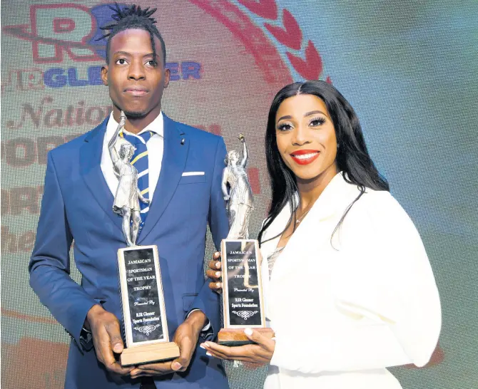
<svg viewBox="0 0 478 389">
<path fill-rule="evenodd" d="M 138 190 L 138 171 L 131 165 L 136 149 L 118 136 L 125 123 L 126 115 L 121 111 L 108 149 L 119 181 L 113 212 L 123 217 L 127 245 L 118 250 L 118 271 L 126 338 L 120 362 L 128 366 L 177 358 L 179 348 L 169 341 L 158 247 L 136 246 L 141 222 L 139 202 L 149 204 L 150 200 Z"/>
</svg>

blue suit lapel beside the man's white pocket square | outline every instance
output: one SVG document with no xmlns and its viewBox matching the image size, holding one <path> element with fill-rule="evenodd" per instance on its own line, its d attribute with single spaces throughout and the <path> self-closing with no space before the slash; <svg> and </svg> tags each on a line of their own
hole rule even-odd
<svg viewBox="0 0 478 389">
<path fill-rule="evenodd" d="M 183 138 L 185 141 L 181 144 Z M 158 223 L 166 207 L 168 207 L 169 202 L 171 202 L 179 180 L 183 175 L 188 150 L 189 142 L 185 138 L 185 134 L 178 130 L 173 120 L 164 115 L 164 148 L 161 172 L 154 191 L 153 201 L 149 207 L 148 216 L 138 237 L 138 244 L 148 237 L 148 234 Z"/>
</svg>

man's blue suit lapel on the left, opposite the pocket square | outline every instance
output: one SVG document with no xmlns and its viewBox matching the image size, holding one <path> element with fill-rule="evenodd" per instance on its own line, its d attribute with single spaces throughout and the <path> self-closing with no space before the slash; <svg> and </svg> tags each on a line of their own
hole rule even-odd
<svg viewBox="0 0 478 389">
<path fill-rule="evenodd" d="M 121 231 L 121 217 L 113 212 L 114 197 L 109 190 L 106 180 L 101 170 L 101 152 L 103 150 L 103 139 L 106 133 L 106 123 L 108 118 L 91 131 L 85 138 L 85 142 L 80 150 L 81 176 L 86 186 L 93 194 L 96 202 L 100 205 L 106 214 L 111 218 L 113 224 Z"/>
</svg>

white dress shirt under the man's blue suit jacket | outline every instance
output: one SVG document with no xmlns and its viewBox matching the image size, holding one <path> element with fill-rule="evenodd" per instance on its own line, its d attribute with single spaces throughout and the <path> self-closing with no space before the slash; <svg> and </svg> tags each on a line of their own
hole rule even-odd
<svg viewBox="0 0 478 389">
<path fill-rule="evenodd" d="M 118 122 L 116 122 L 116 120 L 113 118 L 113 113 L 111 113 L 108 120 L 108 125 L 106 125 L 105 138 L 103 139 L 103 151 L 101 152 L 101 171 L 103 172 L 106 184 L 108 184 L 113 196 L 116 194 L 116 189 L 118 188 L 118 178 L 113 172 L 113 161 L 111 160 L 110 152 L 108 150 L 108 142 L 111 140 L 111 137 L 114 135 L 117 128 Z M 161 164 L 163 162 L 164 120 L 162 112 L 160 112 L 156 119 L 146 126 L 146 128 L 142 130 L 140 134 L 146 133 L 146 131 L 153 132 L 153 136 L 151 136 L 150 140 L 146 142 L 149 165 L 149 199 L 153 201 L 154 190 L 156 189 L 156 184 L 158 183 L 159 173 L 161 172 Z M 128 133 L 126 130 L 125 133 L 136 136 L 134 134 Z"/>
</svg>

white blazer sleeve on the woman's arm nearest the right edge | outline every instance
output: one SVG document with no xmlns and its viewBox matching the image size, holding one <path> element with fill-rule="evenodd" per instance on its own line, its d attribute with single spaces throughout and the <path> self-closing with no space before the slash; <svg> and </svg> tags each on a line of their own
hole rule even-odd
<svg viewBox="0 0 478 389">
<path fill-rule="evenodd" d="M 422 240 L 388 192 L 368 197 L 345 217 L 338 247 L 344 260 L 331 281 L 333 304 L 350 325 L 320 333 L 306 323 L 310 331 L 296 337 L 276 331 L 271 364 L 320 373 L 423 366 L 432 356 L 441 308 Z"/>
</svg>

